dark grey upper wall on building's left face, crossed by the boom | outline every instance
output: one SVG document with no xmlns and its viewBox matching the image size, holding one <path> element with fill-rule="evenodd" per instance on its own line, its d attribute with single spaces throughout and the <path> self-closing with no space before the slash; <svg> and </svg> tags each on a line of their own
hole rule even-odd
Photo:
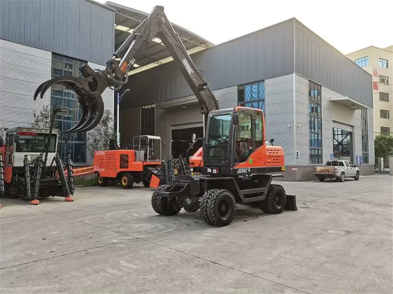
<svg viewBox="0 0 393 294">
<path fill-rule="evenodd" d="M 213 90 L 294 72 L 293 21 L 191 55 Z M 130 76 L 133 89 L 123 107 L 135 107 L 192 95 L 174 62 Z"/>
</svg>

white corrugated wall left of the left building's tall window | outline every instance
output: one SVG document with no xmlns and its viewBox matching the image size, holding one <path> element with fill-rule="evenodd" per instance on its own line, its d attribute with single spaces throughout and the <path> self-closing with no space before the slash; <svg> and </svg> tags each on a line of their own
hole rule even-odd
<svg viewBox="0 0 393 294">
<path fill-rule="evenodd" d="M 33 111 L 50 104 L 50 91 L 35 101 L 33 95 L 39 84 L 51 78 L 51 60 L 49 51 L 0 39 L 0 134 L 4 135 L 4 127 L 30 127 Z M 27 71 L 16 70 L 21 61 L 28 65 Z"/>
</svg>

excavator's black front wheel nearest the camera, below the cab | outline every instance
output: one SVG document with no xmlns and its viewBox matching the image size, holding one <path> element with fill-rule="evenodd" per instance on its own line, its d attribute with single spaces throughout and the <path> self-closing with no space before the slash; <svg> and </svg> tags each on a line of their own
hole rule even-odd
<svg viewBox="0 0 393 294">
<path fill-rule="evenodd" d="M 206 193 L 209 195 L 207 197 L 209 223 L 219 227 L 230 224 L 236 211 L 236 201 L 232 193 L 224 189 L 210 189 Z"/>
</svg>

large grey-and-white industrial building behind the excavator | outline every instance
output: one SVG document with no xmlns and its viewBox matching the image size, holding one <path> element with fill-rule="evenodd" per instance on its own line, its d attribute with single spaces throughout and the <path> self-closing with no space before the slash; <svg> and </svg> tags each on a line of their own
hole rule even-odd
<svg viewBox="0 0 393 294">
<path fill-rule="evenodd" d="M 371 75 L 296 19 L 191 58 L 220 108 L 264 110 L 266 139 L 274 138 L 285 152 L 286 179 L 314 179 L 314 166 L 330 158 L 349 159 L 363 174 L 373 173 Z M 184 138 L 174 134 L 202 127 L 197 99 L 179 69 L 169 62 L 130 75 L 127 88 L 132 85 L 138 87 L 120 108 L 121 144 L 155 134 L 163 140 L 163 156 L 176 156 L 173 142 Z"/>
</svg>

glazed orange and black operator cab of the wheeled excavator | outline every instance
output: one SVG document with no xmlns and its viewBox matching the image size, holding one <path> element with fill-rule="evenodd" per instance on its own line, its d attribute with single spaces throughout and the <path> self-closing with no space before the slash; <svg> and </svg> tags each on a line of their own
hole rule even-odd
<svg viewBox="0 0 393 294">
<path fill-rule="evenodd" d="M 271 148 L 281 147 L 267 144 L 264 125 L 265 117 L 260 109 L 239 106 L 211 111 L 203 150 L 206 172 L 232 174 L 233 169 L 240 168 L 245 173 L 251 172 L 250 169 L 267 170 L 273 164 L 267 160 L 267 150 L 269 153 Z M 274 164 L 280 169 L 283 166 L 281 159 Z"/>
</svg>

